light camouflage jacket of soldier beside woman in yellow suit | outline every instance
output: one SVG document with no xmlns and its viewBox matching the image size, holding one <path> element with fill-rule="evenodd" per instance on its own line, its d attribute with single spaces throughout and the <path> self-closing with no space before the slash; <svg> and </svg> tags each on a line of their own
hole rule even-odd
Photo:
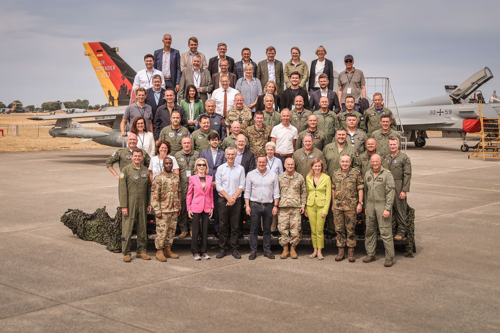
<svg viewBox="0 0 500 333">
<path fill-rule="evenodd" d="M 307 188 L 305 179 L 298 172 L 288 175 L 283 172 L 278 176 L 279 207 L 305 208 L 307 202 Z"/>
</svg>

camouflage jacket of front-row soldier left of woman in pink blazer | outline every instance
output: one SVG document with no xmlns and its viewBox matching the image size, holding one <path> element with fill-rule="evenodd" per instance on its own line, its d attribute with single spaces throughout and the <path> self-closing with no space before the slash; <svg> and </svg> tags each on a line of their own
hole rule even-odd
<svg viewBox="0 0 500 333">
<path fill-rule="evenodd" d="M 154 214 L 180 210 L 180 178 L 176 173 L 161 171 L 151 185 L 151 206 Z"/>
</svg>

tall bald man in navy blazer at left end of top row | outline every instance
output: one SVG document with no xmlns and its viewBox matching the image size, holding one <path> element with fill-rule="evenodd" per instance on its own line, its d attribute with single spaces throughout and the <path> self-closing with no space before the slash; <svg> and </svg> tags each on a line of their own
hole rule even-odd
<svg viewBox="0 0 500 333">
<path fill-rule="evenodd" d="M 178 50 L 171 48 L 172 36 L 169 33 L 163 35 L 163 48 L 154 51 L 153 67 L 163 73 L 165 80 L 165 88 L 170 88 L 175 91 L 175 98 L 177 98 L 177 91 L 179 90 L 180 83 L 180 53 Z M 166 57 L 165 61 L 170 63 L 169 68 L 163 68 L 163 56 Z"/>
</svg>

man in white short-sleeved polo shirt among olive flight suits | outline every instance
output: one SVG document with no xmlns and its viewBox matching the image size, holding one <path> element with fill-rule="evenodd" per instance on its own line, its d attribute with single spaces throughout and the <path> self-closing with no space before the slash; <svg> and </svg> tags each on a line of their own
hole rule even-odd
<svg viewBox="0 0 500 333">
<path fill-rule="evenodd" d="M 290 125 L 290 111 L 288 109 L 281 110 L 281 123 L 274 126 L 271 131 L 271 141 L 276 144 L 274 156 L 281 160 L 284 165 L 284 160 L 293 155 L 295 151 L 295 140 L 298 138 L 298 132 L 295 127 Z"/>
</svg>

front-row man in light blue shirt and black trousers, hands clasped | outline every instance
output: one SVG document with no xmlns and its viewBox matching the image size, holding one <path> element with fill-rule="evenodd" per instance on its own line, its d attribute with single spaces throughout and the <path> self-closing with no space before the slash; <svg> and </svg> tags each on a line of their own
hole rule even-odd
<svg viewBox="0 0 500 333">
<path fill-rule="evenodd" d="M 219 213 L 219 253 L 216 259 L 221 259 L 227 254 L 227 226 L 231 226 L 230 246 L 235 259 L 241 259 L 238 253 L 239 217 L 241 214 L 241 192 L 245 189 L 245 170 L 234 163 L 236 149 L 225 149 L 226 163 L 220 165 L 215 173 L 215 187 L 218 192 L 217 200 Z M 215 203 L 214 203 L 215 204 Z"/>
</svg>

